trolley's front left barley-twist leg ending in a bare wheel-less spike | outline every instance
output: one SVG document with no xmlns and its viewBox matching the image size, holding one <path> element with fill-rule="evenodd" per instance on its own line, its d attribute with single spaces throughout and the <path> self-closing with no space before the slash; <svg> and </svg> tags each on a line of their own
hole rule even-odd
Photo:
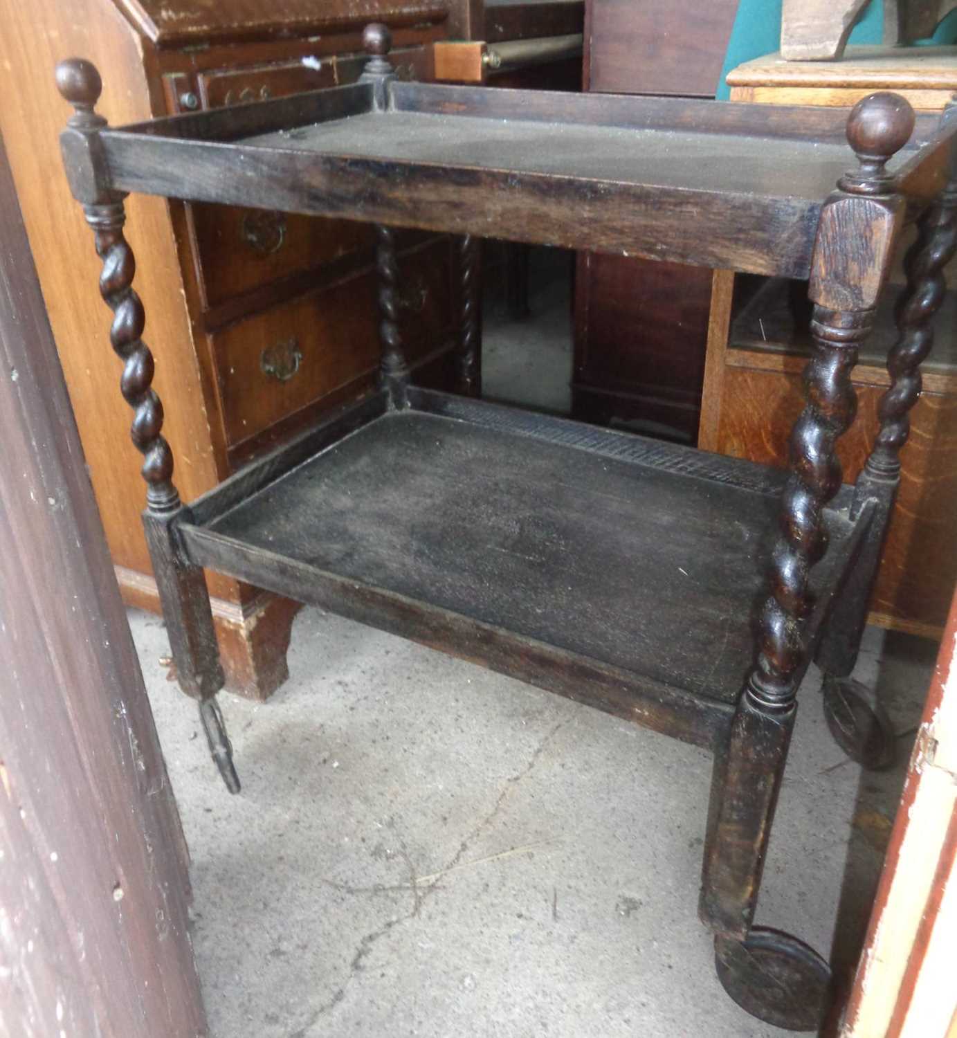
<svg viewBox="0 0 957 1038">
<path fill-rule="evenodd" d="M 152 386 L 153 354 L 142 339 L 145 313 L 133 289 L 136 261 L 122 230 L 125 195 L 110 187 L 99 139 L 107 124 L 93 109 L 103 83 L 93 65 L 79 58 L 57 65 L 56 83 L 75 109 L 60 137 L 63 163 L 103 261 L 100 293 L 113 311 L 110 343 L 124 361 L 119 387 L 133 408 L 130 435 L 143 456 L 143 526 L 176 677 L 180 687 L 198 700 L 210 750 L 230 792 L 238 792 L 231 747 L 214 699 L 224 679 L 206 579 L 202 570 L 185 558 L 175 530 L 186 510 L 172 482 L 172 452 L 162 434 L 163 405 Z"/>
</svg>

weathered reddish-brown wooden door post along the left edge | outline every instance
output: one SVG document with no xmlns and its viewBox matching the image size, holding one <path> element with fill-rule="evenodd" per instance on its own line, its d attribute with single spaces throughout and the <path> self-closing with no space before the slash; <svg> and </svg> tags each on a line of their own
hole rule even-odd
<svg viewBox="0 0 957 1038">
<path fill-rule="evenodd" d="M 200 1038 L 187 851 L 0 138 L 0 1031 Z"/>
</svg>

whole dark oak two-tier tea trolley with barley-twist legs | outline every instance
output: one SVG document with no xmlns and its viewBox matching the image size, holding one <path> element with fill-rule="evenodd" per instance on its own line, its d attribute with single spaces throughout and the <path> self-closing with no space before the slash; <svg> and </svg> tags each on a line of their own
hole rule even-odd
<svg viewBox="0 0 957 1038">
<path fill-rule="evenodd" d="M 364 38 L 354 85 L 121 129 L 94 111 L 92 65 L 57 71 L 176 673 L 213 757 L 238 790 L 203 568 L 708 747 L 700 912 L 718 975 L 755 1015 L 816 1029 L 827 964 L 753 925 L 755 907 L 798 684 L 812 658 L 840 684 L 857 653 L 955 251 L 957 119 L 915 117 L 892 93 L 848 115 L 410 83 L 392 74 L 384 26 Z M 374 223 L 377 391 L 182 502 L 132 288 L 128 192 Z M 835 444 L 854 418 L 850 374 L 908 220 L 919 237 L 880 432 L 844 486 Z M 814 345 L 789 471 L 416 386 L 397 226 L 461 236 L 466 282 L 482 237 L 808 278 Z M 466 390 L 472 295 L 461 300 Z M 863 699 L 831 720 L 852 750 L 880 735 Z"/>
</svg>

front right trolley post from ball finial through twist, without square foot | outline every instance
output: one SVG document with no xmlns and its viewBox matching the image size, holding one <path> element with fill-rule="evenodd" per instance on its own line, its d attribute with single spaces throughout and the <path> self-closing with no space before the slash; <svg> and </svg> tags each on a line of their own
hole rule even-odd
<svg viewBox="0 0 957 1038">
<path fill-rule="evenodd" d="M 771 594 L 745 693 L 762 710 L 790 709 L 802 676 L 802 628 L 813 604 L 810 570 L 826 550 L 823 509 L 842 480 L 835 447 L 854 418 L 851 372 L 874 322 L 903 215 L 885 164 L 907 142 L 913 122 L 913 110 L 897 94 L 858 102 L 847 136 L 859 168 L 840 180 L 821 211 L 809 285 L 814 352 L 804 372 L 806 404 L 791 436 Z"/>
</svg>

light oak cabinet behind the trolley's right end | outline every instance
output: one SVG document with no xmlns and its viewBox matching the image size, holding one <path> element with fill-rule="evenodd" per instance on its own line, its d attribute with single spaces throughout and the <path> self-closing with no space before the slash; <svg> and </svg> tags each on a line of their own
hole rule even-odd
<svg viewBox="0 0 957 1038">
<path fill-rule="evenodd" d="M 758 104 L 850 105 L 877 89 L 893 88 L 917 108 L 939 111 L 957 90 L 957 48 L 888 50 L 849 47 L 843 61 L 757 58 L 728 76 L 732 101 Z M 957 268 L 950 265 L 953 283 Z M 898 292 L 903 271 L 892 274 Z M 806 357 L 808 313 L 795 313 L 784 285 L 755 285 L 715 274 L 699 446 L 768 464 L 787 464 L 791 421 L 799 408 L 800 368 Z M 798 290 L 799 294 L 799 290 Z M 735 300 L 737 299 L 737 302 Z M 937 322 L 932 374 L 911 414 L 905 448 L 907 479 L 891 525 L 871 621 L 939 637 L 957 582 L 957 310 L 951 292 Z M 745 305 L 746 304 L 746 305 Z M 855 371 L 863 421 L 842 441 L 845 475 L 862 470 L 878 428 L 877 408 L 888 376 L 881 355 L 895 335 L 887 305 L 875 345 Z M 931 372 L 928 365 L 926 371 Z"/>
</svg>

